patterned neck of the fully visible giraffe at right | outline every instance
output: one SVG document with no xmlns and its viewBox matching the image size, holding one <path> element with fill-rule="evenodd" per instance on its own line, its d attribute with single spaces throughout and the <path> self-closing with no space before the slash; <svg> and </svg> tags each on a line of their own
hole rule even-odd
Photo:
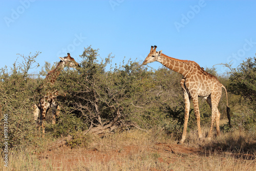
<svg viewBox="0 0 256 171">
<path fill-rule="evenodd" d="M 168 69 L 180 73 L 183 77 L 186 77 L 186 75 L 189 73 L 189 62 L 194 62 L 188 60 L 175 59 L 165 54 L 161 54 L 158 57 L 157 61 L 162 63 L 162 65 L 164 65 Z"/>
</svg>

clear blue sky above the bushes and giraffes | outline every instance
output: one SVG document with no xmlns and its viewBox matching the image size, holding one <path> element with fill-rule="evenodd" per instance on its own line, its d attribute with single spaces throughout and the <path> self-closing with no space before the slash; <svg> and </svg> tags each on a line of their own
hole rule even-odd
<svg viewBox="0 0 256 171">
<path fill-rule="evenodd" d="M 156 45 L 168 56 L 204 68 L 231 60 L 237 67 L 256 53 L 255 8 L 256 1 L 5 0 L 0 5 L 0 68 L 12 66 L 17 53 L 36 51 L 41 52 L 40 67 L 67 52 L 79 62 L 90 45 L 102 58 L 115 55 L 113 63 L 124 56 L 144 60 Z"/>
</svg>

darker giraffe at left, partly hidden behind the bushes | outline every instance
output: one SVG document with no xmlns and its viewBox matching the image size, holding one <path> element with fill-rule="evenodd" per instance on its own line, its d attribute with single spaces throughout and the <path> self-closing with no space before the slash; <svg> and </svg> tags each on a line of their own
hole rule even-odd
<svg viewBox="0 0 256 171">
<path fill-rule="evenodd" d="M 56 68 L 52 71 L 50 71 L 45 80 L 40 85 L 38 92 L 42 94 L 42 97 L 39 100 L 38 104 L 34 104 L 34 119 L 35 121 L 38 121 L 38 127 L 40 129 L 40 126 L 42 127 L 42 133 L 45 134 L 45 120 L 46 120 L 46 114 L 50 108 L 53 109 L 53 120 L 52 124 L 56 123 L 56 117 L 59 116 L 60 106 L 56 102 L 56 98 L 58 96 L 58 91 L 53 90 L 52 87 L 54 85 L 54 82 L 58 78 L 60 72 L 65 66 L 69 66 L 72 68 L 79 67 L 78 63 L 75 61 L 74 58 L 70 56 L 70 53 L 68 53 L 68 56 L 65 57 L 59 57 L 60 61 L 58 62 L 58 65 Z M 40 115 L 39 115 L 40 114 Z"/>
</svg>

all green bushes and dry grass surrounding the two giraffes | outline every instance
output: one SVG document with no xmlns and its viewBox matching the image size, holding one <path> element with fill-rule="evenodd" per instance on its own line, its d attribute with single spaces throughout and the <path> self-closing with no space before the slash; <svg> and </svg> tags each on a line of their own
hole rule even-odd
<svg viewBox="0 0 256 171">
<path fill-rule="evenodd" d="M 127 145 L 140 148 L 135 155 L 121 156 L 121 162 L 95 164 L 88 161 L 87 164 L 79 163 L 72 168 L 74 170 L 255 170 L 255 57 L 247 58 L 236 69 L 226 64 L 229 68 L 226 75 L 218 75 L 215 68 L 206 69 L 227 88 L 232 127 L 227 123 L 223 93 L 219 103 L 222 135 L 214 136 L 210 142 L 198 140 L 191 104 L 188 136 L 183 146 L 200 149 L 201 156 L 197 156 L 200 164 L 191 156 L 177 152 L 170 153 L 178 156 L 177 160 L 159 162 L 159 159 L 167 161 L 168 157 L 159 151 L 148 151 L 148 148 L 160 149 L 157 147 L 159 142 L 177 144 L 181 138 L 184 121 L 182 76 L 165 67 L 152 70 L 141 66 L 138 61 L 112 63 L 114 57 L 111 54 L 102 58 L 98 50 L 91 47 L 85 48 L 80 55 L 80 68 L 64 68 L 55 82 L 54 88 L 60 92 L 57 101 L 61 114 L 58 122 L 51 124 L 49 110 L 43 137 L 34 121 L 33 104 L 39 99 L 37 89 L 40 83 L 56 63 L 46 62 L 39 73 L 31 73 L 33 68 L 39 67 L 36 63 L 38 55 L 40 52 L 18 55 L 13 66 L 0 70 L 0 136 L 3 139 L 0 168 L 61 170 L 63 167 L 57 168 L 51 161 L 40 162 L 38 154 L 48 151 L 49 144 L 56 140 L 70 137 L 65 146 L 73 149 L 118 151 L 117 154 L 121 154 Z M 211 111 L 201 98 L 199 108 L 206 137 Z M 5 167 L 7 137 L 9 165 Z M 201 167 L 202 163 L 206 169 Z M 219 169 L 215 169 L 216 165 Z"/>
</svg>

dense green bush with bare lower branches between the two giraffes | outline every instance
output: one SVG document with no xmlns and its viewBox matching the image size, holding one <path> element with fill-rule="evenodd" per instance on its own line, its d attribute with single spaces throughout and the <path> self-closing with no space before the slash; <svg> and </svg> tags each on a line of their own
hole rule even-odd
<svg viewBox="0 0 256 171">
<path fill-rule="evenodd" d="M 161 121 L 168 115 L 165 108 L 169 108 L 169 102 L 173 106 L 182 101 L 181 89 L 177 94 L 169 84 L 170 73 L 175 80 L 180 77 L 176 73 L 162 69 L 154 75 L 153 71 L 130 60 L 105 71 L 106 66 L 111 65 L 112 57 L 109 55 L 100 62 L 97 57 L 97 50 L 84 49 L 81 68 L 67 69 L 58 79 L 60 89 L 66 92 L 61 102 L 62 114 L 73 113 L 79 117 L 87 125 L 82 126 L 83 129 L 104 126 L 114 120 L 119 125 L 129 123 L 149 129 L 163 124 Z M 174 96 L 180 100 L 173 99 Z M 58 124 L 54 126 L 54 130 L 60 128 Z M 68 133 L 63 130 L 61 135 Z"/>
</svg>

